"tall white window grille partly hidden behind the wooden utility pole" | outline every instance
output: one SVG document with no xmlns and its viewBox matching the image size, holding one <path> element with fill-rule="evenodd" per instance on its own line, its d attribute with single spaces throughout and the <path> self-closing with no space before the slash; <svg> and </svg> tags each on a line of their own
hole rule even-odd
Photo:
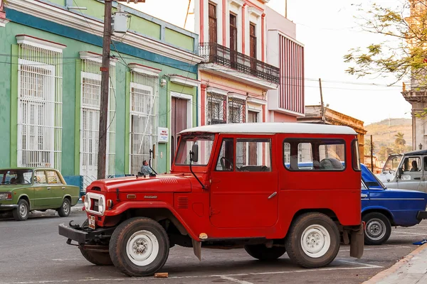
<svg viewBox="0 0 427 284">
<path fill-rule="evenodd" d="M 80 75 L 80 175 L 83 187 L 97 179 L 99 148 L 101 62 L 83 59 Z M 107 114 L 106 178 L 115 175 L 115 66 L 110 65 L 110 92 Z"/>
</svg>

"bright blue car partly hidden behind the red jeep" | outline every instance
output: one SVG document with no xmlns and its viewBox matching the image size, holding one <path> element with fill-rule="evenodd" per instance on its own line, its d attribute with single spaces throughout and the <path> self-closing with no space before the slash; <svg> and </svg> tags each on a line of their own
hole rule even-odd
<svg viewBox="0 0 427 284">
<path fill-rule="evenodd" d="M 387 188 L 366 165 L 361 167 L 365 244 L 384 244 L 391 226 L 415 226 L 427 218 L 427 193 Z"/>
</svg>

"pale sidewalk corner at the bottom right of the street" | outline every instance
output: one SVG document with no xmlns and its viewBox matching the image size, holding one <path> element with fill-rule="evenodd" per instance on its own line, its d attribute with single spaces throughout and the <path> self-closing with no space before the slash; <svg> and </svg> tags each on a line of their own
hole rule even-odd
<svg viewBox="0 0 427 284">
<path fill-rule="evenodd" d="M 381 271 L 362 284 L 427 283 L 427 244 L 418 247 L 391 268 Z"/>
</svg>

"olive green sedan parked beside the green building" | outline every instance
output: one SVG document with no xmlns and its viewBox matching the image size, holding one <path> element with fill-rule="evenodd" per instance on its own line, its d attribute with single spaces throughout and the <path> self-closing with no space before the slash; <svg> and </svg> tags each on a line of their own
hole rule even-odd
<svg viewBox="0 0 427 284">
<path fill-rule="evenodd" d="M 67 185 L 52 168 L 0 169 L 0 212 L 12 211 L 18 221 L 33 210 L 55 209 L 67 217 L 79 194 L 79 187 Z"/>
</svg>

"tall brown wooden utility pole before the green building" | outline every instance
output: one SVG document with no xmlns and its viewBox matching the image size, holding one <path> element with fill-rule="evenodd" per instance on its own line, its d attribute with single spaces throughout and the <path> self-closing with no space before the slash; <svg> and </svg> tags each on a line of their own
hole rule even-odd
<svg viewBox="0 0 427 284">
<path fill-rule="evenodd" d="M 108 118 L 108 91 L 110 89 L 110 51 L 111 51 L 111 12 L 112 0 L 104 0 L 104 34 L 102 42 L 101 97 L 100 97 L 100 127 L 99 146 L 97 156 L 97 179 L 106 177 L 107 160 L 107 118 Z"/>
</svg>

